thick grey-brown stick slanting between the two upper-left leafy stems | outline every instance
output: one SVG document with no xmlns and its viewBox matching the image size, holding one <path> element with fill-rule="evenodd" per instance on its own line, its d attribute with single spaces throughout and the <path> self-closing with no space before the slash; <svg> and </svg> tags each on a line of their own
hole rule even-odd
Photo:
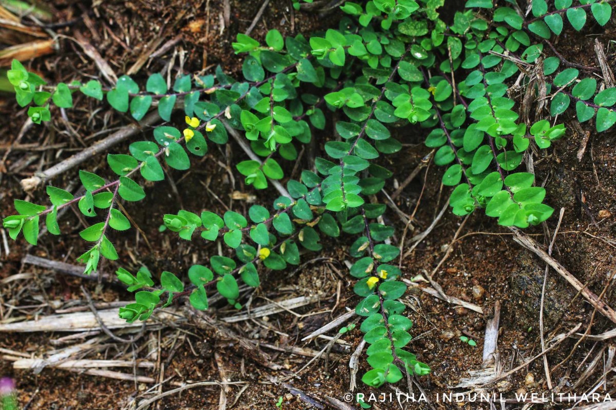
<svg viewBox="0 0 616 410">
<path fill-rule="evenodd" d="M 159 120 L 160 116 L 158 115 L 158 112 L 152 111 L 150 112 L 150 114 L 145 116 L 144 119 L 142 119 L 138 124 L 126 125 L 126 127 L 122 127 L 120 130 L 111 134 L 99 143 L 94 144 L 93 146 L 84 149 L 78 154 L 75 154 L 74 156 L 63 160 L 59 164 L 55 164 L 48 170 L 43 172 L 37 172 L 30 178 L 22 179 L 22 188 L 25 191 L 31 191 L 44 184 L 47 179 L 54 178 L 54 176 L 60 175 L 63 172 L 68 171 L 73 167 L 76 167 L 82 162 L 91 159 L 93 156 L 100 154 L 101 152 L 107 151 L 116 144 L 119 144 L 129 138 L 129 136 L 136 134 L 144 127 L 150 127 L 154 125 Z"/>
</svg>

